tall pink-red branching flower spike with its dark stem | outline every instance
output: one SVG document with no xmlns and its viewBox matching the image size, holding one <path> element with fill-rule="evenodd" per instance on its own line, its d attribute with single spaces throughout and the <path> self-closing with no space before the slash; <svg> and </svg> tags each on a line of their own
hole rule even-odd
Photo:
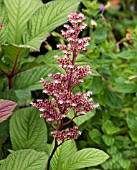
<svg viewBox="0 0 137 170">
<path fill-rule="evenodd" d="M 77 55 L 85 50 L 90 40 L 89 37 L 78 38 L 79 33 L 86 27 L 85 23 L 81 23 L 84 19 L 83 14 L 71 13 L 68 15 L 71 26 L 65 24 L 66 31 L 62 31 L 68 45 L 58 45 L 64 53 L 63 58 L 55 56 L 65 74 L 49 74 L 48 76 L 53 79 L 49 83 L 42 78 L 40 81 L 45 88 L 43 93 L 52 96 L 52 99 L 45 99 L 44 101 L 39 99 L 37 103 L 31 103 L 42 112 L 40 116 L 44 117 L 54 129 L 52 135 L 55 137 L 55 146 L 48 159 L 47 170 L 50 169 L 50 161 L 57 148 L 67 140 L 77 139 L 78 135 L 81 134 L 77 126 L 67 129 L 64 127 L 76 117 L 85 115 L 98 107 L 98 104 L 93 104 L 92 99 L 89 98 L 92 92 L 88 91 L 83 95 L 80 92 L 73 94 L 73 89 L 83 82 L 85 76 L 90 74 L 90 66 L 75 65 Z M 64 118 L 70 110 L 74 111 L 74 115 L 71 120 L 64 122 Z"/>
</svg>

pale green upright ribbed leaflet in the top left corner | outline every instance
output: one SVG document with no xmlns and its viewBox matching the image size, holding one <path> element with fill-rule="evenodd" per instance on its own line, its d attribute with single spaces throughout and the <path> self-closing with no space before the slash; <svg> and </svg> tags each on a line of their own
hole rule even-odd
<svg viewBox="0 0 137 170">
<path fill-rule="evenodd" d="M 4 0 L 8 13 L 8 43 L 22 44 L 27 21 L 42 5 L 40 0 Z"/>
</svg>

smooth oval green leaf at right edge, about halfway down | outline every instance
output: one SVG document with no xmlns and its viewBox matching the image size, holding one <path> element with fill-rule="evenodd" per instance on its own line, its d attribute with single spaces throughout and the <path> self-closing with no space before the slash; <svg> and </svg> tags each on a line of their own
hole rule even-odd
<svg viewBox="0 0 137 170">
<path fill-rule="evenodd" d="M 113 90 L 120 93 L 135 93 L 137 92 L 137 85 L 131 83 L 118 84 L 113 88 Z"/>
</svg>

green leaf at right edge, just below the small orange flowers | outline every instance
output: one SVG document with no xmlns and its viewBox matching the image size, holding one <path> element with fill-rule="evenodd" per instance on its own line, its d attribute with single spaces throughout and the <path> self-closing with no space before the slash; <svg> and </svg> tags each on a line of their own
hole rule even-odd
<svg viewBox="0 0 137 170">
<path fill-rule="evenodd" d="M 137 58 L 137 50 L 126 50 L 118 54 L 118 57 L 124 59 L 136 59 Z"/>
</svg>

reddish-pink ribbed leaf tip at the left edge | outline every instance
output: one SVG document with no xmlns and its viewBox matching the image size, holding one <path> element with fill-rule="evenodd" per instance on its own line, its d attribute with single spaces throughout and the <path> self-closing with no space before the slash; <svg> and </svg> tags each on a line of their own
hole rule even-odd
<svg viewBox="0 0 137 170">
<path fill-rule="evenodd" d="M 0 122 L 12 115 L 17 103 L 10 100 L 0 100 Z"/>
</svg>

